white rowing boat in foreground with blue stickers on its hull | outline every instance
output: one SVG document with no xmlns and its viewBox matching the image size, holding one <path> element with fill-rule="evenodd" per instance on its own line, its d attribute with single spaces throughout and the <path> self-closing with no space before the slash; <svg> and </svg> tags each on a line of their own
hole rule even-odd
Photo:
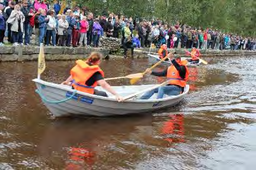
<svg viewBox="0 0 256 170">
<path fill-rule="evenodd" d="M 149 100 L 139 100 L 140 96 L 125 102 L 117 102 L 115 97 L 108 93 L 109 97 L 96 96 L 71 89 L 71 86 L 49 83 L 40 79 L 33 80 L 36 83 L 37 93 L 44 105 L 56 116 L 113 116 L 137 113 L 151 113 L 153 110 L 174 106 L 179 103 L 188 93 L 189 85 L 185 87 L 184 93 L 178 96 L 165 96 L 164 99 L 156 99 L 154 94 Z M 155 84 L 142 86 L 113 86 L 120 96 L 128 96 L 137 91 L 145 90 Z M 103 90 L 96 87 L 97 90 Z"/>
</svg>

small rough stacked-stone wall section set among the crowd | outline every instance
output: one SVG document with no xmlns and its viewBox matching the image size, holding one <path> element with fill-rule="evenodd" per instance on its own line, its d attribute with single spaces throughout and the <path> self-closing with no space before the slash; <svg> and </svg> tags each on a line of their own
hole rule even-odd
<svg viewBox="0 0 256 170">
<path fill-rule="evenodd" d="M 101 37 L 100 38 L 101 47 L 107 48 L 110 51 L 118 51 L 121 47 L 121 39 L 120 38 L 107 38 Z"/>
</svg>

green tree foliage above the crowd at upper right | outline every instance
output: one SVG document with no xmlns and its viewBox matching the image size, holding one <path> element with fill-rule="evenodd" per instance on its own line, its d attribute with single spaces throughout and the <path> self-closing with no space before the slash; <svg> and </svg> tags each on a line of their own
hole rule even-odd
<svg viewBox="0 0 256 170">
<path fill-rule="evenodd" d="M 255 0 L 78 0 L 96 15 L 108 12 L 126 17 L 160 18 L 194 27 L 213 27 L 255 37 Z"/>
</svg>

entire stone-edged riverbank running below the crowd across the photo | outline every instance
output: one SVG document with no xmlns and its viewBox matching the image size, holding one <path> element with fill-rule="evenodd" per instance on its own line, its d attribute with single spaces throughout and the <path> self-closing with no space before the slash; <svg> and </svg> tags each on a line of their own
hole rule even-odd
<svg viewBox="0 0 256 170">
<path fill-rule="evenodd" d="M 92 51 L 103 53 L 105 58 L 123 58 L 121 55 L 110 54 L 107 48 L 70 48 L 70 47 L 44 47 L 46 60 L 77 60 L 88 57 Z M 149 48 L 138 48 L 135 50 L 135 58 L 146 58 Z M 184 49 L 175 49 L 177 55 L 184 55 Z M 151 53 L 157 53 L 158 49 L 151 49 Z M 130 53 L 130 50 L 129 52 Z M 229 55 L 256 55 L 256 51 L 248 50 L 200 50 L 201 57 L 222 57 Z M 4 46 L 0 47 L 0 62 L 5 61 L 35 61 L 39 55 L 37 46 Z"/>
</svg>

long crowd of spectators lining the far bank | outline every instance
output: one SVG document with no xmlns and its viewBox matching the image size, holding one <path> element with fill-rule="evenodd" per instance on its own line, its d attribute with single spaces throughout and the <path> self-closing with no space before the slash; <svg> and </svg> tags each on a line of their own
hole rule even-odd
<svg viewBox="0 0 256 170">
<path fill-rule="evenodd" d="M 59 14 L 59 1 L 49 5 L 44 1 L 0 2 L 0 46 L 4 37 L 14 46 L 35 44 L 66 47 L 98 47 L 101 36 L 121 38 L 126 55 L 127 48 L 200 48 L 255 50 L 255 38 L 228 34 L 212 28 L 194 28 L 185 24 L 168 24 L 160 19 L 126 18 L 110 12 L 95 17 L 87 8 L 65 8 Z"/>
</svg>

